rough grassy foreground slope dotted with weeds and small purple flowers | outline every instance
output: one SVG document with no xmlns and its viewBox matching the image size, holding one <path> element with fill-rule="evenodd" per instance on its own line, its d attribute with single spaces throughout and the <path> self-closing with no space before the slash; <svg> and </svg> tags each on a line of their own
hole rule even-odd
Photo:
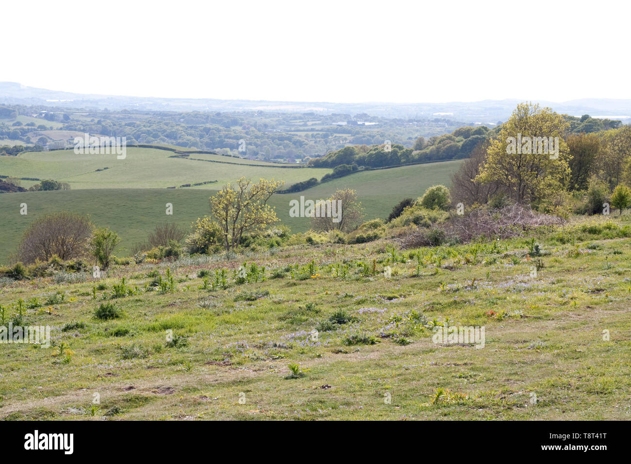
<svg viewBox="0 0 631 464">
<path fill-rule="evenodd" d="M 5 281 L 5 318 L 22 307 L 52 347 L 2 347 L 0 418 L 628 420 L 631 242 L 612 220 L 538 235 L 535 276 L 524 239 L 418 260 L 382 239 Z M 234 278 L 245 260 L 264 282 Z M 445 322 L 484 347 L 433 340 Z"/>
</svg>

